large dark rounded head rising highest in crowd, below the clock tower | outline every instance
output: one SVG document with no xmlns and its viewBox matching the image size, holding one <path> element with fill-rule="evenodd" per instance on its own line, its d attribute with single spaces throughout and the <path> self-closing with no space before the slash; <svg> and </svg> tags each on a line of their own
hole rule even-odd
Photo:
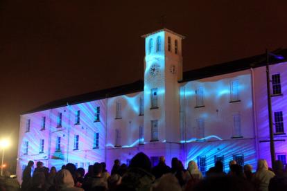
<svg viewBox="0 0 287 191">
<path fill-rule="evenodd" d="M 150 172 L 150 158 L 148 158 L 148 156 L 146 156 L 146 154 L 144 154 L 143 152 L 139 152 L 130 161 L 130 167 L 139 167 L 143 170 Z"/>
</svg>

